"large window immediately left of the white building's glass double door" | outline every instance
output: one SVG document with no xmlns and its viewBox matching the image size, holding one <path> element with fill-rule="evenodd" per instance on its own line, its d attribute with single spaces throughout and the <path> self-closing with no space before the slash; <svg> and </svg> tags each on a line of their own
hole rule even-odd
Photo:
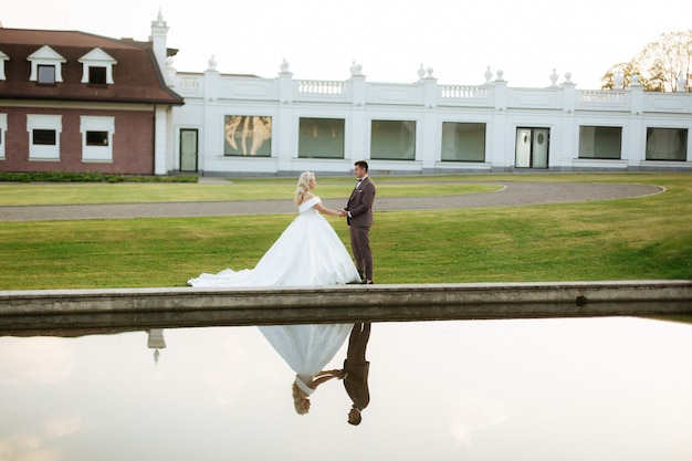
<svg viewBox="0 0 692 461">
<path fill-rule="evenodd" d="M 485 124 L 442 123 L 442 161 L 485 161 Z"/>
</svg>

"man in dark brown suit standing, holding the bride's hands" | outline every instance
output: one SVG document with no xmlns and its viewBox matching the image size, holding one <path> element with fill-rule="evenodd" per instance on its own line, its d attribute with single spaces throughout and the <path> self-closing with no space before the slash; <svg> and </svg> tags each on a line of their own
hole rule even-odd
<svg viewBox="0 0 692 461">
<path fill-rule="evenodd" d="M 358 184 L 348 198 L 342 216 L 350 230 L 350 249 L 356 259 L 356 268 L 363 284 L 373 284 L 373 252 L 370 251 L 370 226 L 373 226 L 373 205 L 375 202 L 375 182 L 368 176 L 368 163 L 358 160 L 354 164 L 354 174 Z"/>
</svg>

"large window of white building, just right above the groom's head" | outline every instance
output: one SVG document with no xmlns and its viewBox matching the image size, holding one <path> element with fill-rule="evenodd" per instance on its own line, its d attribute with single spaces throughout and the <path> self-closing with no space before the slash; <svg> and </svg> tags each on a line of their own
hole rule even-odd
<svg viewBox="0 0 692 461">
<path fill-rule="evenodd" d="M 373 121 L 370 136 L 370 158 L 416 159 L 416 122 Z"/>
</svg>

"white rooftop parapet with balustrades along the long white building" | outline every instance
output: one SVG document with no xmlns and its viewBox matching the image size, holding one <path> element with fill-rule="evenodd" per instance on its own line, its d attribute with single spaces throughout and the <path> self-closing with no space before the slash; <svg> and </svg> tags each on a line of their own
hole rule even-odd
<svg viewBox="0 0 692 461">
<path fill-rule="evenodd" d="M 203 74 L 177 74 L 174 90 L 187 101 L 242 101 L 244 107 L 253 102 L 282 104 L 304 101 L 311 104 L 352 103 L 356 106 L 392 105 L 398 107 L 469 106 L 495 109 L 562 109 L 599 112 L 663 112 L 692 113 L 692 94 L 644 92 L 640 85 L 626 90 L 576 90 L 566 82 L 543 88 L 508 87 L 503 80 L 482 85 L 438 84 L 436 78 L 421 78 L 413 83 L 366 82 L 357 75 L 346 81 L 294 80 L 291 73 L 276 78 Z M 250 111 L 244 108 L 244 111 Z"/>
</svg>

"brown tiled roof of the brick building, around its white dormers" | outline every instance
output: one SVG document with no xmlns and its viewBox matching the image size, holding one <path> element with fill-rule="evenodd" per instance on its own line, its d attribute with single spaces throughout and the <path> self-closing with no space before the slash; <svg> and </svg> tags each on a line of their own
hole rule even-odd
<svg viewBox="0 0 692 461">
<path fill-rule="evenodd" d="M 43 45 L 66 60 L 62 64 L 63 82 L 55 85 L 29 81 L 31 63 L 27 57 Z M 83 67 L 77 60 L 95 48 L 117 61 L 113 84 L 81 83 Z M 182 97 L 166 86 L 150 43 L 77 31 L 0 28 L 0 51 L 10 57 L 4 63 L 7 80 L 0 81 L 0 98 L 184 104 Z"/>
</svg>

